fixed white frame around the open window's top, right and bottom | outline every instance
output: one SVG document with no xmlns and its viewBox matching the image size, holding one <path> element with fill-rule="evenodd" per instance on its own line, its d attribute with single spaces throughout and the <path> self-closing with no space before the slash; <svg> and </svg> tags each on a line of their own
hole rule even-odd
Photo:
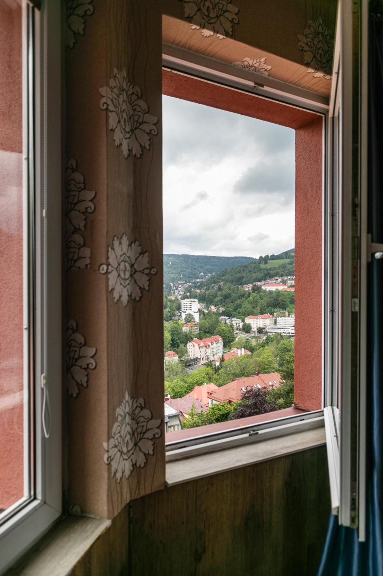
<svg viewBox="0 0 383 576">
<path fill-rule="evenodd" d="M 202 79 L 206 82 L 219 84 L 228 88 L 240 90 L 254 94 L 255 96 L 267 98 L 269 100 L 279 101 L 285 105 L 294 108 L 305 109 L 317 113 L 323 118 L 323 214 L 328 209 L 328 179 L 327 179 L 327 158 L 328 158 L 328 130 L 329 130 L 329 98 L 311 92 L 298 86 L 293 86 L 275 78 L 254 74 L 251 71 L 231 66 L 225 62 L 196 54 L 178 48 L 170 44 L 162 45 L 162 65 L 166 70 L 173 71 L 177 74 L 185 74 L 191 77 Z M 325 218 L 323 218 L 323 222 Z M 327 255 L 325 253 L 325 233 L 327 225 L 323 228 L 323 266 Z M 323 267 L 323 271 L 325 268 Z M 325 274 L 323 274 L 324 278 Z M 322 342 L 328 325 L 328 313 L 325 311 L 325 283 L 323 283 L 323 314 L 322 314 Z M 327 355 L 324 344 L 322 345 L 322 389 L 323 401 L 322 410 L 307 412 L 306 414 L 278 418 L 275 414 L 275 420 L 261 422 L 258 424 L 235 426 L 219 433 L 208 433 L 196 435 L 193 438 L 183 439 L 182 441 L 167 442 L 166 444 L 166 462 L 181 460 L 190 456 L 197 456 L 204 453 L 234 448 L 239 445 L 250 442 L 258 442 L 261 439 L 270 439 L 282 437 L 305 430 L 312 430 L 316 427 L 324 426 L 323 407 L 325 406 L 325 396 L 327 394 L 328 383 L 327 376 Z"/>
</svg>

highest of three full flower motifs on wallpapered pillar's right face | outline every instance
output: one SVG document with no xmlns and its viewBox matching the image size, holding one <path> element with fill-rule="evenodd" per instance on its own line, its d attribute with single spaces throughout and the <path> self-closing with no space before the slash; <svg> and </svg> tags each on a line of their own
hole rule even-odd
<svg viewBox="0 0 383 576">
<path fill-rule="evenodd" d="M 154 126 L 158 118 L 148 113 L 148 105 L 141 100 L 141 89 L 128 82 L 125 68 L 122 71 L 115 68 L 109 86 L 100 88 L 99 93 L 104 96 L 100 107 L 109 111 L 109 130 L 114 132 L 116 146 L 121 145 L 124 158 L 130 153 L 139 158 L 143 147 L 150 149 L 150 134 L 158 134 Z"/>
</svg>

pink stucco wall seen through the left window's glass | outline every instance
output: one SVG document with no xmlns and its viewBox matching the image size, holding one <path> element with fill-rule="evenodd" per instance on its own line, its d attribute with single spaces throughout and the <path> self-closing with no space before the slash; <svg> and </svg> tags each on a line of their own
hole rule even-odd
<svg viewBox="0 0 383 576">
<path fill-rule="evenodd" d="M 0 2 L 0 510 L 24 495 L 21 6 Z"/>
</svg>

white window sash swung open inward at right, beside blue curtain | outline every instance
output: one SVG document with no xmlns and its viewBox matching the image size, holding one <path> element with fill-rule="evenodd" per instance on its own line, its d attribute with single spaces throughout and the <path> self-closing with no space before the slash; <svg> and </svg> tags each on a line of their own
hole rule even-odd
<svg viewBox="0 0 383 576">
<path fill-rule="evenodd" d="M 339 3 L 328 119 L 324 417 L 332 511 L 365 539 L 367 3 Z M 371 249 L 369 248 L 369 251 Z"/>
</svg>

